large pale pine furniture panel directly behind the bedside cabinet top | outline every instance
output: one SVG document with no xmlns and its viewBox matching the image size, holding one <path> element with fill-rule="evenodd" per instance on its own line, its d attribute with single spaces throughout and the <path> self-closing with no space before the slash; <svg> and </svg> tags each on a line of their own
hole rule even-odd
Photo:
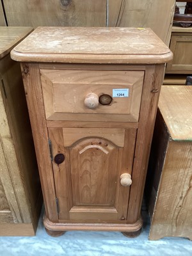
<svg viewBox="0 0 192 256">
<path fill-rule="evenodd" d="M 3 0 L 8 26 L 151 28 L 169 45 L 175 0 Z"/>
</svg>

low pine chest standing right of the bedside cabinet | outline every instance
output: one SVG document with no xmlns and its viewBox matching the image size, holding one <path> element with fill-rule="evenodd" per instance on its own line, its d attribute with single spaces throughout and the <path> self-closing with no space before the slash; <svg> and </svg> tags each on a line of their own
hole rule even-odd
<svg viewBox="0 0 192 256">
<path fill-rule="evenodd" d="M 192 240 L 192 86 L 163 86 L 148 176 L 149 239 Z"/>
</svg>

